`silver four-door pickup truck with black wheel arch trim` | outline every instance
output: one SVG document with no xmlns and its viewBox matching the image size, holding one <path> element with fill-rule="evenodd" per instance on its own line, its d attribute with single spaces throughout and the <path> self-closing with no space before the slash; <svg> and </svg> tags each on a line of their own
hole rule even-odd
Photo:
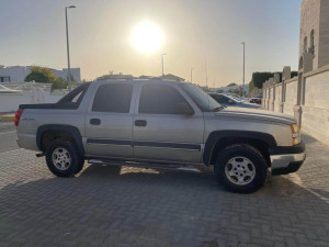
<svg viewBox="0 0 329 247">
<path fill-rule="evenodd" d="M 225 109 L 192 83 L 149 80 L 84 83 L 54 104 L 22 104 L 18 144 L 45 155 L 59 177 L 90 164 L 149 168 L 207 166 L 234 192 L 297 171 L 305 145 L 295 120 L 262 110 Z M 114 166 L 115 165 L 115 166 Z"/>
</svg>

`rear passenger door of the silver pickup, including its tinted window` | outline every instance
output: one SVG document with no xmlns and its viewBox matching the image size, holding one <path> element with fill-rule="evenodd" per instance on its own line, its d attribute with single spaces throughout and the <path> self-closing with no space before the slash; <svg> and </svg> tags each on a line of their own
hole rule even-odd
<svg viewBox="0 0 329 247">
<path fill-rule="evenodd" d="M 86 117 L 87 155 L 133 157 L 133 82 L 103 82 Z"/>
</svg>

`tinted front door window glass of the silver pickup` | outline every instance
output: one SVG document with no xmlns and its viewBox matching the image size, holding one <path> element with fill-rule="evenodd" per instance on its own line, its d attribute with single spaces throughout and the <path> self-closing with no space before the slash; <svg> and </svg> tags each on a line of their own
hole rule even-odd
<svg viewBox="0 0 329 247">
<path fill-rule="evenodd" d="M 139 100 L 139 113 L 179 114 L 180 104 L 188 104 L 174 88 L 166 85 L 145 85 Z"/>
</svg>

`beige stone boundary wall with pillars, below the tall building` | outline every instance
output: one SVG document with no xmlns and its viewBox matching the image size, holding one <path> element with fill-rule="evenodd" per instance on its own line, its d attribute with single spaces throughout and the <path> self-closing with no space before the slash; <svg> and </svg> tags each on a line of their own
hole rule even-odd
<svg viewBox="0 0 329 247">
<path fill-rule="evenodd" d="M 329 65 L 307 72 L 302 68 L 294 78 L 290 75 L 291 68 L 285 67 L 282 81 L 265 81 L 262 106 L 295 116 L 303 131 L 329 144 Z"/>
</svg>

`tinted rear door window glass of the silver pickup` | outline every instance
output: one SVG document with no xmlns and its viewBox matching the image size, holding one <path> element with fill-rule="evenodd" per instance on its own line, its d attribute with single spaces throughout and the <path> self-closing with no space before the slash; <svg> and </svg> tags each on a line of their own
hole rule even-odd
<svg viewBox="0 0 329 247">
<path fill-rule="evenodd" d="M 133 85 L 111 83 L 99 87 L 93 104 L 94 112 L 128 113 L 131 109 Z"/>
</svg>

